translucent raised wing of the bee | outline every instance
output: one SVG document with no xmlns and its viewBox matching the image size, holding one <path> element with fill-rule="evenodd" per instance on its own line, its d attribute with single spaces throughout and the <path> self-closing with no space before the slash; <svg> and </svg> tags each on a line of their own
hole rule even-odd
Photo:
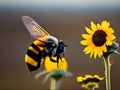
<svg viewBox="0 0 120 90">
<path fill-rule="evenodd" d="M 46 32 L 35 20 L 33 20 L 29 16 L 22 16 L 22 21 L 25 25 L 25 27 L 30 32 L 31 36 L 34 38 L 40 38 L 46 35 L 50 35 L 48 32 Z"/>
</svg>

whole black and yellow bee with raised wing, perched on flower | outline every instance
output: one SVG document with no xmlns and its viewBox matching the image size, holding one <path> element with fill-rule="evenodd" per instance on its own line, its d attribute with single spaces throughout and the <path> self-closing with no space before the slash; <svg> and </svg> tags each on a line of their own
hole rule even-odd
<svg viewBox="0 0 120 90">
<path fill-rule="evenodd" d="M 65 47 L 67 47 L 64 42 L 51 36 L 31 17 L 22 16 L 22 21 L 30 35 L 36 39 L 29 46 L 25 55 L 25 63 L 29 71 L 35 71 L 40 68 L 46 56 L 49 56 L 50 60 L 57 63 L 58 66 L 59 60 L 64 57 Z M 53 56 L 57 57 L 57 60 L 52 59 Z"/>
</svg>

